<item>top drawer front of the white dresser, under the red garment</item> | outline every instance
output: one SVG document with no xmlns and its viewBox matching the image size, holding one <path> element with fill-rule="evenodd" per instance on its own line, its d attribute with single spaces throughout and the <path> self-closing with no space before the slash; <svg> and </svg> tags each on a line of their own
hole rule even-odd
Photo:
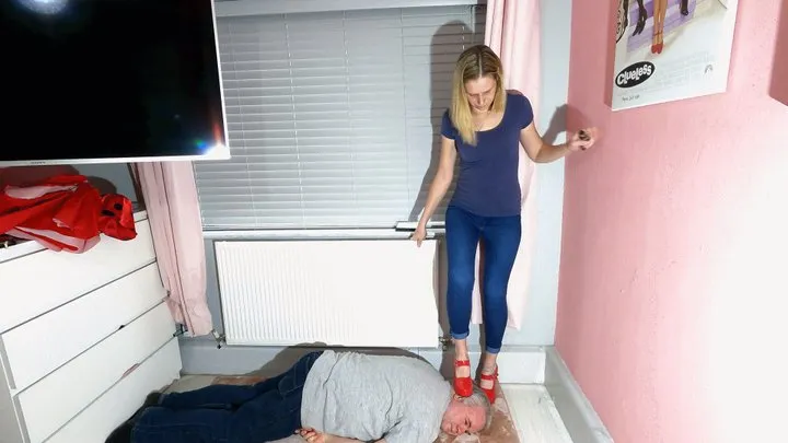
<svg viewBox="0 0 788 443">
<path fill-rule="evenodd" d="M 40 250 L 0 264 L 0 331 L 5 331 L 155 259 L 148 220 L 127 242 L 102 235 L 83 254 Z"/>
</svg>

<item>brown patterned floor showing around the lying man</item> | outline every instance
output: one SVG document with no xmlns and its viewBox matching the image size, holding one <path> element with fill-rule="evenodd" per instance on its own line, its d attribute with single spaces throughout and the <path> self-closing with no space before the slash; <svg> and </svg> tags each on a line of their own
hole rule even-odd
<svg viewBox="0 0 788 443">
<path fill-rule="evenodd" d="M 213 378 L 211 384 L 224 384 L 224 385 L 250 385 L 258 383 L 265 380 L 262 376 L 217 376 Z M 495 405 L 493 405 L 494 416 L 493 424 L 490 429 L 483 435 L 460 435 L 453 438 L 451 435 L 441 434 L 436 443 L 520 443 L 514 423 L 512 422 L 511 415 L 509 412 L 509 405 L 507 404 L 506 397 L 500 389 L 498 389 L 498 398 Z M 292 439 L 280 440 L 281 443 L 297 443 L 303 442 L 298 436 Z"/>
</svg>

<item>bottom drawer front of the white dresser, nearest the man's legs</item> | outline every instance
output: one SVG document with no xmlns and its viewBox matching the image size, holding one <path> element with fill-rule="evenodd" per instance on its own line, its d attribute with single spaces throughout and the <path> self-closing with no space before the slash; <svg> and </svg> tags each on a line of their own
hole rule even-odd
<svg viewBox="0 0 788 443">
<path fill-rule="evenodd" d="M 181 352 L 177 339 L 173 338 L 46 443 L 104 443 L 109 433 L 142 405 L 148 393 L 177 380 L 179 373 Z"/>
</svg>

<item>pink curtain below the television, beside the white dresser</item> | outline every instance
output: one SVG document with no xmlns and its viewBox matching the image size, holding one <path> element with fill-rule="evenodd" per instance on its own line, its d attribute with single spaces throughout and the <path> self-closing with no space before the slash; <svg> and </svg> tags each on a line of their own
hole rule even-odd
<svg viewBox="0 0 788 443">
<path fill-rule="evenodd" d="M 192 162 L 137 163 L 159 272 L 175 322 L 192 336 L 213 329 L 206 299 L 202 222 Z"/>
</svg>

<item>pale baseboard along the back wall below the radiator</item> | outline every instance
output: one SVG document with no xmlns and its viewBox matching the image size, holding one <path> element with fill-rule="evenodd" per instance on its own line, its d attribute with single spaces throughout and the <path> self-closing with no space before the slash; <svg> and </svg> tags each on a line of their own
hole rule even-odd
<svg viewBox="0 0 788 443">
<path fill-rule="evenodd" d="M 301 355 L 325 348 L 277 348 L 223 346 L 217 349 L 212 340 L 181 340 L 181 359 L 185 374 L 239 375 L 262 373 L 277 374 L 287 370 Z M 420 357 L 441 371 L 444 376 L 453 373 L 451 349 L 354 349 L 376 354 L 409 354 Z M 475 373 L 482 352 L 471 349 L 471 364 Z M 545 349 L 529 346 L 503 346 L 498 355 L 501 383 L 543 384 L 545 375 Z"/>
</svg>

